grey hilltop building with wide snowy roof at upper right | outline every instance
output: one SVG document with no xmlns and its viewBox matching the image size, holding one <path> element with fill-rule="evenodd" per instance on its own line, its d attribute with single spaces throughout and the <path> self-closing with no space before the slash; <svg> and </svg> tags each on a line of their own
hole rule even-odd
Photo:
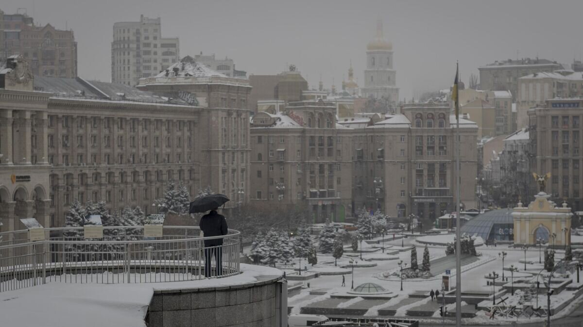
<svg viewBox="0 0 583 327">
<path fill-rule="evenodd" d="M 518 94 L 518 79 L 528 74 L 553 72 L 563 69 L 563 65 L 547 59 L 522 58 L 496 61 L 486 66 L 478 67 L 480 71 L 480 88 L 492 91 L 510 91 L 513 101 Z M 520 127 L 520 126 L 518 126 Z"/>
</svg>

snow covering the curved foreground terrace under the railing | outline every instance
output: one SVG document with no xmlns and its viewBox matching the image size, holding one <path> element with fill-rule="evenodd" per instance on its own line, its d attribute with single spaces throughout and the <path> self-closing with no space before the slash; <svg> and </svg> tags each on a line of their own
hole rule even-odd
<svg viewBox="0 0 583 327">
<path fill-rule="evenodd" d="M 154 290 L 194 289 L 257 282 L 279 269 L 241 264 L 240 275 L 185 282 L 136 284 L 58 283 L 0 293 L 0 326 L 145 326 Z"/>
</svg>

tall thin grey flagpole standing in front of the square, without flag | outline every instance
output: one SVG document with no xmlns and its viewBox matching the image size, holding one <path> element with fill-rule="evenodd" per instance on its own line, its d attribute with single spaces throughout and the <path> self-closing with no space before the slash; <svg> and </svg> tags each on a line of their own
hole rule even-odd
<svg viewBox="0 0 583 327">
<path fill-rule="evenodd" d="M 455 64 L 456 66 L 456 77 L 459 72 L 459 65 L 458 63 Z M 459 83 L 459 81 L 458 81 Z M 457 90 L 455 94 L 455 112 L 456 112 L 456 119 L 455 119 L 455 184 L 456 184 L 456 212 L 457 216 L 455 219 L 455 326 L 460 327 L 462 325 L 462 262 L 461 262 L 461 254 L 462 254 L 462 246 L 461 246 L 461 239 L 460 239 L 460 230 L 461 224 L 459 219 L 459 211 L 460 211 L 460 201 L 459 201 L 459 90 Z"/>
</svg>

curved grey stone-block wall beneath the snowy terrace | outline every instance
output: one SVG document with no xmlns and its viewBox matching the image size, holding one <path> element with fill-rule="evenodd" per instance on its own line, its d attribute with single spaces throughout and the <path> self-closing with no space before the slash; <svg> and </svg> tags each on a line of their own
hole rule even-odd
<svg viewBox="0 0 583 327">
<path fill-rule="evenodd" d="M 154 291 L 149 327 L 278 326 L 278 279 L 245 285 Z M 285 327 L 285 326 L 284 326 Z"/>
</svg>

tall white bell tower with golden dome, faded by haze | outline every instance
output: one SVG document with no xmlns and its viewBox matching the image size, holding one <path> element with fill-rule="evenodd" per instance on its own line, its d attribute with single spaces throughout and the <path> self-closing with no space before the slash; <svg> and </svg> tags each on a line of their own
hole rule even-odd
<svg viewBox="0 0 583 327">
<path fill-rule="evenodd" d="M 367 64 L 364 70 L 363 97 L 385 98 L 391 108 L 399 104 L 399 88 L 396 87 L 396 71 L 393 69 L 393 45 L 382 35 L 382 20 L 377 20 L 377 34 L 367 44 Z"/>
</svg>

